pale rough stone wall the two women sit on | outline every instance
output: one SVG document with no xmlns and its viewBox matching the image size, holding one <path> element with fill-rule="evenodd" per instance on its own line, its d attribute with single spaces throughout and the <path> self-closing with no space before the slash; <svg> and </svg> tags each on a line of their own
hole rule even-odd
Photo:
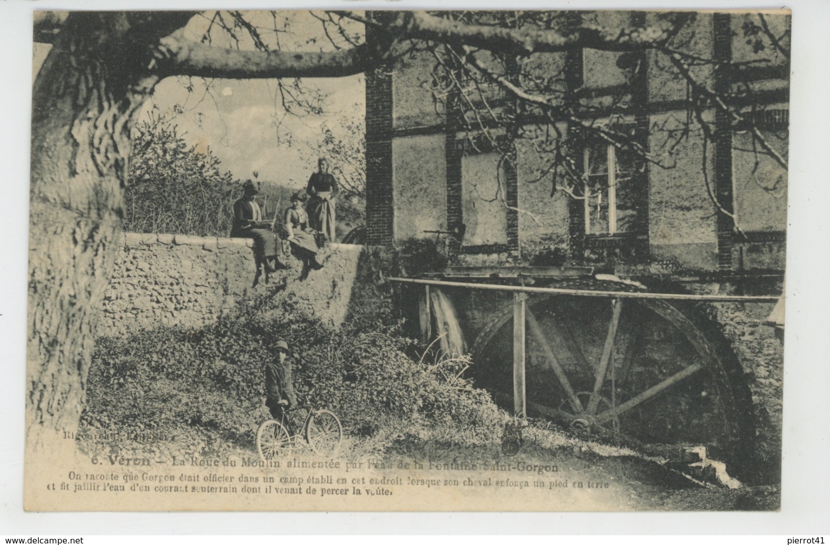
<svg viewBox="0 0 830 545">
<path fill-rule="evenodd" d="M 333 244 L 322 270 L 300 279 L 291 256 L 288 270 L 255 273 L 250 239 L 125 233 L 110 287 L 105 293 L 98 334 L 118 335 L 158 325 L 199 327 L 213 322 L 238 299 L 269 286 L 314 305 L 320 318 L 341 324 L 357 275 L 362 246 Z"/>
</svg>

